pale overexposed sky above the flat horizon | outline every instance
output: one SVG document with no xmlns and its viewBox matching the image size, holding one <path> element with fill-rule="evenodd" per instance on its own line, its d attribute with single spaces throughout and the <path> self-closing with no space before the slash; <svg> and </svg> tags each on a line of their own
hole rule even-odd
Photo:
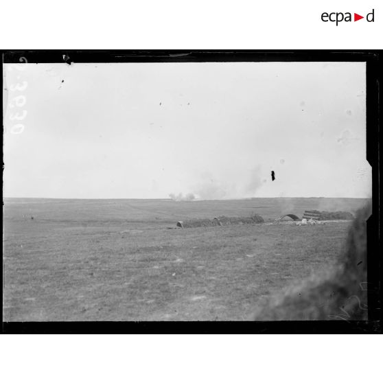
<svg viewBox="0 0 383 383">
<path fill-rule="evenodd" d="M 3 65 L 5 197 L 371 197 L 364 62 L 23 68 Z"/>
</svg>

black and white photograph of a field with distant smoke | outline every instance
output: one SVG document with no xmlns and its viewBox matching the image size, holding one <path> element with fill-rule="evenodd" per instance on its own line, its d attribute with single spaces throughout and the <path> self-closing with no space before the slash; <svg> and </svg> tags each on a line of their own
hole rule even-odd
<svg viewBox="0 0 383 383">
<path fill-rule="evenodd" d="M 369 320 L 364 60 L 12 55 L 4 323 Z"/>
</svg>

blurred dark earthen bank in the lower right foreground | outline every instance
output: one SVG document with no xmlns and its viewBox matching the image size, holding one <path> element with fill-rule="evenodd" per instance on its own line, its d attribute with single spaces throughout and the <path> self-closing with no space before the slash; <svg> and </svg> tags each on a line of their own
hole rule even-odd
<svg viewBox="0 0 383 383">
<path fill-rule="evenodd" d="M 259 303 L 255 321 L 367 320 L 367 227 L 371 205 L 358 211 L 336 265 Z M 308 259 L 313 254 L 307 253 Z"/>
</svg>

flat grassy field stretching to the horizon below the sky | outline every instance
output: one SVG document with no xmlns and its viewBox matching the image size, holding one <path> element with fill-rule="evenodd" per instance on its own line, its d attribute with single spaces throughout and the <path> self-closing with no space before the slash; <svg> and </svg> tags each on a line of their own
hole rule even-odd
<svg viewBox="0 0 383 383">
<path fill-rule="evenodd" d="M 267 222 L 364 202 L 5 199 L 3 320 L 248 320 L 261 299 L 336 262 L 350 224 Z M 251 212 L 266 224 L 166 229 Z"/>
</svg>

